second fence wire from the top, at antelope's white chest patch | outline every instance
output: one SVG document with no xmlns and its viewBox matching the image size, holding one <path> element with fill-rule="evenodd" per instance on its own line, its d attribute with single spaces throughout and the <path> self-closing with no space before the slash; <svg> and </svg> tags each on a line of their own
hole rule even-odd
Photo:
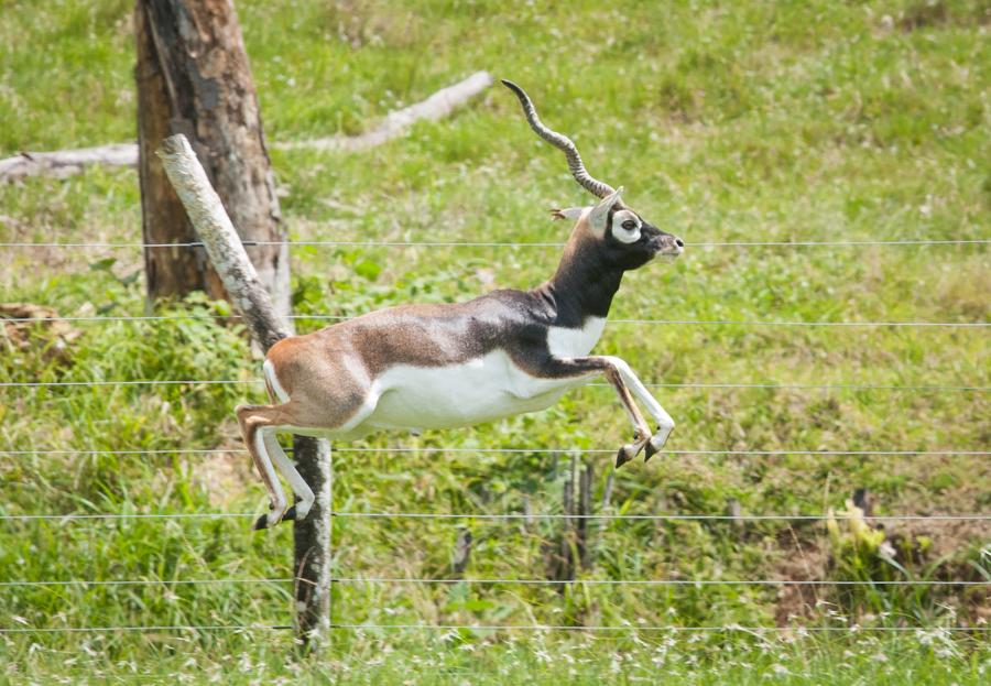
<svg viewBox="0 0 991 686">
<path fill-rule="evenodd" d="M 143 316 L 69 316 L 69 317 L 0 317 L 0 322 L 20 324 L 44 322 L 177 322 L 182 319 L 243 319 L 242 315 L 143 315 Z M 346 315 L 288 315 L 285 318 L 301 320 L 346 320 Z M 759 322 L 734 319 L 610 319 L 610 324 L 645 324 L 672 326 L 789 326 L 789 327 L 895 327 L 895 328 L 987 328 L 991 322 Z"/>
</svg>

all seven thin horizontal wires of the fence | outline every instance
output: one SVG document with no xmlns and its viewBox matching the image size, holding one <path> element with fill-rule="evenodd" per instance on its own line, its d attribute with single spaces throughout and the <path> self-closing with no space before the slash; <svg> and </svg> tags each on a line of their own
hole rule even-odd
<svg viewBox="0 0 991 686">
<path fill-rule="evenodd" d="M 281 241 L 244 243 L 246 247 L 252 244 L 271 246 L 280 244 Z M 911 240 L 853 240 L 853 241 L 745 241 L 745 242 L 701 242 L 694 243 L 695 247 L 705 248 L 738 248 L 738 249 L 784 249 L 784 248 L 854 248 L 864 246 L 876 247 L 938 247 L 938 246 L 981 246 L 991 243 L 991 239 L 911 239 Z M 559 248 L 563 243 L 557 242 L 473 242 L 473 241 L 328 241 L 328 240 L 304 240 L 291 241 L 292 246 L 309 246 L 309 247 L 384 247 L 384 248 L 456 248 L 456 249 L 519 249 L 519 248 Z M 204 243 L 167 243 L 167 244 L 143 244 L 131 242 L 0 242 L 2 249 L 196 249 L 203 248 Z M 182 319 L 215 319 L 214 315 L 162 315 L 162 316 L 45 316 L 45 317 L 7 317 L 0 319 L 0 323 L 12 324 L 34 324 L 46 322 L 86 322 L 86 323 L 129 323 L 140 325 L 148 322 L 176 322 Z M 240 318 L 239 315 L 225 315 L 224 318 Z M 342 315 L 296 315 L 294 319 L 309 320 L 340 320 L 348 317 Z M 991 327 L 991 323 L 987 322 L 857 322 L 857 320 L 839 320 L 839 322 L 782 322 L 782 320 L 675 320 L 675 319 L 610 319 L 611 324 L 623 325 L 668 325 L 668 326 L 771 326 L 771 327 L 887 327 L 887 328 L 958 328 L 970 330 L 983 330 Z M 3 389 L 91 389 L 104 386 L 161 386 L 161 385 L 250 385 L 263 383 L 260 379 L 238 380 L 238 379 L 139 379 L 139 380 L 80 380 L 80 381 L 29 381 L 29 382 L 2 382 L 0 388 Z M 589 384 L 606 385 L 606 384 Z M 772 390 L 851 390 L 851 391 L 887 391 L 887 392 L 914 392 L 914 393 L 987 393 L 991 386 L 987 385 L 969 385 L 969 384 L 932 384 L 932 385 L 899 385 L 899 384 L 859 384 L 859 383 L 646 383 L 649 388 L 664 389 L 772 389 Z M 608 454 L 613 455 L 613 449 L 581 449 L 571 448 L 453 448 L 453 447 L 381 447 L 381 448 L 348 448 L 335 447 L 337 453 L 381 453 L 381 454 L 401 454 L 413 451 L 436 450 L 444 453 L 470 453 L 470 454 Z M 24 449 L 24 450 L 0 450 L 0 455 L 18 457 L 18 456 L 43 456 L 43 455 L 61 455 L 61 456 L 84 456 L 84 455 L 116 455 L 116 456 L 149 456 L 149 455 L 210 455 L 210 454 L 232 454 L 244 453 L 243 449 L 218 449 L 218 448 L 177 448 L 177 449 L 117 449 L 117 450 L 86 450 L 86 449 Z M 712 449 L 678 449 L 665 450 L 669 455 L 708 455 L 708 456 L 782 456 L 782 455 L 806 455 L 806 456 L 890 456 L 890 457 L 907 457 L 907 456 L 991 456 L 991 450 L 911 450 L 911 449 L 823 449 L 823 450 L 805 450 L 805 449 L 780 449 L 780 450 L 760 450 L 760 449 L 739 449 L 739 450 L 712 450 Z M 2 507 L 2 504 L 0 504 Z M 842 521 L 851 515 L 847 513 L 836 514 L 628 514 L 628 513 L 600 513 L 600 514 L 569 514 L 569 513 L 433 513 L 433 512 L 358 512 L 358 511 L 334 511 L 333 491 L 330 500 L 331 515 L 335 519 L 366 519 L 366 520 L 383 520 L 383 519 L 405 519 L 405 520 L 482 520 L 482 521 L 512 521 L 512 520 L 618 520 L 618 521 L 728 521 L 728 522 L 747 522 L 747 521 L 781 521 L 781 522 L 823 522 L 829 518 Z M 152 513 L 121 513 L 121 512 L 88 512 L 88 513 L 44 513 L 44 514 L 0 514 L 0 524 L 8 522 L 32 522 L 32 521 L 57 521 L 61 523 L 76 522 L 112 522 L 121 520 L 155 520 L 155 521 L 174 521 L 174 520 L 218 520 L 218 519 L 246 519 L 251 520 L 257 513 L 246 512 L 152 512 Z M 941 513 L 941 514 L 892 514 L 892 515 L 858 515 L 858 519 L 869 522 L 895 522 L 895 521 L 943 521 L 943 522 L 991 522 L 991 514 L 985 513 Z M 333 545 L 333 537 L 330 541 Z M 279 578 L 178 578 L 167 580 L 154 579 L 51 579 L 51 580 L 29 580 L 29 579 L 2 579 L 0 588 L 30 588 L 30 587 L 113 587 L 113 586 L 197 586 L 197 585 L 290 585 L 298 584 L 298 577 L 279 577 Z M 361 577 L 361 576 L 337 576 L 333 577 L 333 584 L 341 585 L 516 585 L 516 586 L 552 586 L 560 585 L 559 580 L 554 579 L 533 579 L 533 578 L 418 578 L 418 577 Z M 640 587 L 716 587 L 716 586 L 744 586 L 744 587 L 784 587 L 784 586 L 805 586 L 805 587 L 934 587 L 934 586 L 951 586 L 951 587 L 991 587 L 989 580 L 946 580 L 946 579 L 896 579 L 896 580 L 824 580 L 824 579 L 575 579 L 569 581 L 578 586 L 640 586 Z M 651 625 L 638 622 L 629 622 L 622 625 L 571 625 L 571 624 L 454 624 L 454 623 L 341 623 L 334 620 L 333 614 L 329 618 L 330 629 L 364 631 L 364 630 L 410 630 L 410 631 L 458 631 L 458 630 L 491 630 L 491 631 L 563 631 L 563 632 L 601 632 L 601 633 L 622 633 L 622 632 L 748 632 L 753 634 L 763 634 L 771 632 L 795 632 L 795 633 L 818 633 L 818 632 L 925 632 L 933 631 L 934 628 L 925 627 L 896 627 L 896 625 L 858 625 L 851 623 L 846 627 L 767 627 L 767 625 L 709 625 L 709 627 L 684 627 L 677 624 Z M 263 630 L 290 630 L 294 629 L 294 624 L 167 624 L 167 625 L 113 625 L 113 627 L 0 627 L 0 634 L 18 634 L 18 633 L 106 633 L 106 632 L 157 632 L 157 631 L 263 631 Z M 991 629 L 988 625 L 970 625 L 970 627 L 940 627 L 938 631 L 948 632 L 987 632 Z"/>
</svg>

